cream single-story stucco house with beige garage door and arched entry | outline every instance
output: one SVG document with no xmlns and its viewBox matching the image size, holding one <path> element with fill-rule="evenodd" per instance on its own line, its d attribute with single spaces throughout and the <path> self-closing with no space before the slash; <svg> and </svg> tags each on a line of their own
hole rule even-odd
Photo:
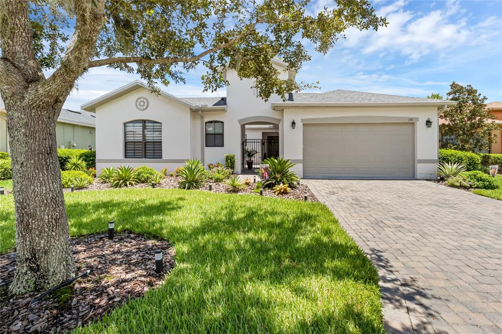
<svg viewBox="0 0 502 334">
<path fill-rule="evenodd" d="M 281 79 L 296 75 L 280 60 L 273 65 Z M 241 173 L 243 150 L 258 141 L 255 166 L 279 155 L 297 163 L 302 177 L 435 178 L 438 112 L 452 101 L 346 90 L 264 101 L 253 80 L 231 69 L 223 75 L 226 98 L 157 95 L 134 81 L 83 104 L 96 113 L 97 169 L 147 164 L 173 171 L 187 158 L 207 164 L 233 153 Z"/>
</svg>

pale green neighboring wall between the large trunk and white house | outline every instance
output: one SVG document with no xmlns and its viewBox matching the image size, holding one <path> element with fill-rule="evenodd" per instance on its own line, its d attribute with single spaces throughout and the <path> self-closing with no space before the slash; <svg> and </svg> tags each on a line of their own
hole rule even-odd
<svg viewBox="0 0 502 334">
<path fill-rule="evenodd" d="M 56 141 L 58 148 L 64 145 L 65 148 L 87 149 L 91 145 L 92 149 L 96 149 L 96 129 L 90 126 L 57 122 Z"/>
</svg>

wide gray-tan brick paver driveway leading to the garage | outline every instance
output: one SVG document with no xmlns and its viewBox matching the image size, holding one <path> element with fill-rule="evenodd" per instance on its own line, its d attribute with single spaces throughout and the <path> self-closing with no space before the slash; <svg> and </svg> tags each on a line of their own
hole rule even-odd
<svg viewBox="0 0 502 334">
<path fill-rule="evenodd" d="M 380 271 L 389 332 L 502 333 L 502 202 L 428 181 L 305 180 Z"/>
</svg>

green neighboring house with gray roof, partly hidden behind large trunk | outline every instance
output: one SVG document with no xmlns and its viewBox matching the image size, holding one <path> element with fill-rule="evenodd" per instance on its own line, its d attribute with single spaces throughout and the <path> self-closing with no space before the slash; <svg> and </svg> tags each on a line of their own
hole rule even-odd
<svg viewBox="0 0 502 334">
<path fill-rule="evenodd" d="M 7 133 L 7 114 L 2 99 L 0 99 L 0 151 L 9 151 Z M 73 111 L 61 109 L 56 122 L 57 147 L 88 148 L 96 147 L 96 117 L 88 111 Z"/>
</svg>

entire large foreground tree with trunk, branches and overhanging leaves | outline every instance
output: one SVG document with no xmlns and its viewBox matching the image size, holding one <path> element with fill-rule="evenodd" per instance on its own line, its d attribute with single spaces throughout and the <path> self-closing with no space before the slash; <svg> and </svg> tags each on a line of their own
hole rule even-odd
<svg viewBox="0 0 502 334">
<path fill-rule="evenodd" d="M 0 93 L 16 208 L 11 291 L 46 289 L 75 273 L 55 126 L 85 71 L 135 72 L 158 90 L 156 83 L 184 82 L 184 73 L 203 64 L 201 80 L 212 91 L 225 86 L 218 68 L 228 66 L 256 79 L 262 98 L 284 98 L 310 85 L 278 79 L 273 57 L 298 69 L 310 59 L 301 40 L 326 53 L 349 27 L 387 24 L 367 0 L 333 4 L 312 16 L 308 0 L 0 0 Z"/>
</svg>

